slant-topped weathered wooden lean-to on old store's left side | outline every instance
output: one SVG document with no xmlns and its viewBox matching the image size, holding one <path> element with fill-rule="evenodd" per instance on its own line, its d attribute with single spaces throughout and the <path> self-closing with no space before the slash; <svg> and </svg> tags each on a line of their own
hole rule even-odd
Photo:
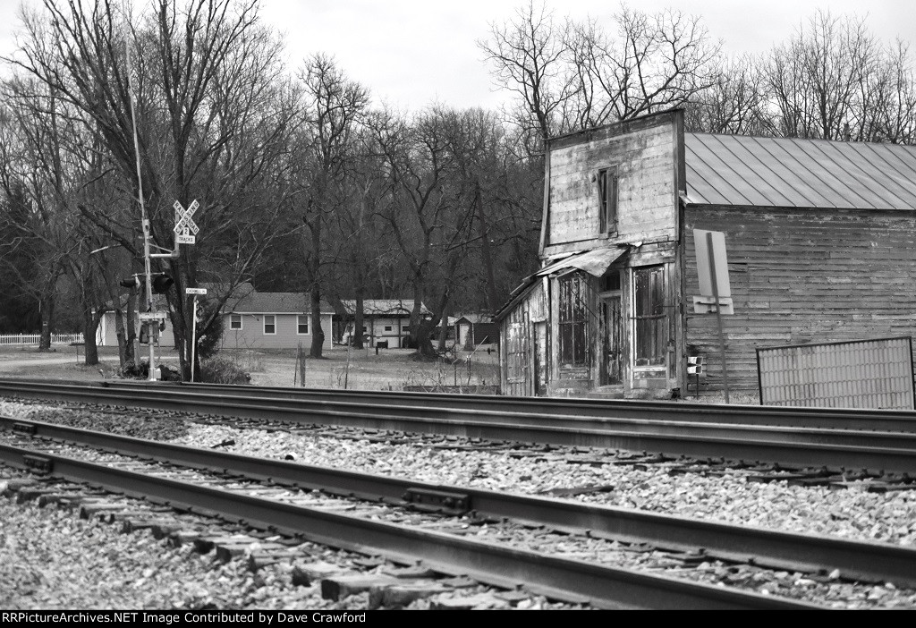
<svg viewBox="0 0 916 628">
<path fill-rule="evenodd" d="M 545 281 L 540 280 L 519 298 L 507 317 L 499 321 L 499 384 L 503 395 L 535 395 L 536 383 L 544 390 L 548 378 Z"/>
</svg>

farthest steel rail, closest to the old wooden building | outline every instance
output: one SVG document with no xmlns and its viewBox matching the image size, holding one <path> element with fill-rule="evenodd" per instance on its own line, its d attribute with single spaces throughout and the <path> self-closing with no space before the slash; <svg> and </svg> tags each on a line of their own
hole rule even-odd
<svg viewBox="0 0 916 628">
<path fill-rule="evenodd" d="M 132 380 L 104 380 L 95 385 L 108 387 L 149 387 L 157 389 L 198 389 L 222 395 L 258 396 L 298 400 L 326 401 L 334 404 L 384 404 L 395 407 L 456 407 L 474 412 L 507 416 L 544 417 L 638 417 L 650 420 L 690 420 L 739 425 L 777 425 L 807 428 L 876 429 L 879 431 L 916 432 L 916 412 L 911 410 L 877 410 L 800 406 L 728 406 L 639 399 L 590 399 L 569 397 L 513 397 L 503 395 L 449 395 L 445 393 L 405 393 L 400 391 L 339 390 L 330 388 L 285 388 L 279 386 L 246 386 L 234 384 L 191 384 L 158 382 L 149 384 Z M 682 418 L 685 417 L 685 418 Z"/>
</svg>

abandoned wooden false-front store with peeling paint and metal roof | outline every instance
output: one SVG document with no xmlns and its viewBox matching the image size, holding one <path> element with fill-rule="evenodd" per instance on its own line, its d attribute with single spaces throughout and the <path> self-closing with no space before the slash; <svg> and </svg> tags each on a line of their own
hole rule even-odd
<svg viewBox="0 0 916 628">
<path fill-rule="evenodd" d="M 693 230 L 725 233 L 728 374 L 756 348 L 916 330 L 916 147 L 685 133 L 682 112 L 552 138 L 540 271 L 500 310 L 507 395 L 663 397 L 721 383 Z"/>
</svg>

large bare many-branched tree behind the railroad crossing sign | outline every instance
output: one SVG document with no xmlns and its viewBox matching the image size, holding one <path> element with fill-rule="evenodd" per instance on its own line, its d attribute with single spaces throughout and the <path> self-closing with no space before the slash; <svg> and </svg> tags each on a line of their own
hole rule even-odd
<svg viewBox="0 0 916 628">
<path fill-rule="evenodd" d="M 175 280 L 169 312 L 189 370 L 191 313 L 183 288 L 208 278 L 233 286 L 277 236 L 276 212 L 285 203 L 268 190 L 289 167 L 284 159 L 294 100 L 281 81 L 279 44 L 257 22 L 256 0 L 156 0 L 136 18 L 120 7 L 114 0 L 45 0 L 43 13 L 24 16 L 22 48 L 8 61 L 92 123 L 119 176 L 146 202 L 157 247 L 171 248 L 172 203 L 201 201 L 196 248 L 154 267 Z M 133 68 L 127 49 L 133 50 Z M 142 189 L 133 142 L 135 97 Z M 82 212 L 138 253 L 134 224 L 124 215 L 90 206 Z M 202 333 L 217 316 L 213 311 Z"/>
</svg>

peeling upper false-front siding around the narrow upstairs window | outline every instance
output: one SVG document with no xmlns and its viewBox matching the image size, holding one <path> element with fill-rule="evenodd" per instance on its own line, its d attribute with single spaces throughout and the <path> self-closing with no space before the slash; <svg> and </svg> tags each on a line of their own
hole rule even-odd
<svg viewBox="0 0 916 628">
<path fill-rule="evenodd" d="M 551 140 L 543 254 L 675 240 L 681 112 Z M 601 233 L 599 169 L 616 168 L 617 231 Z"/>
</svg>

